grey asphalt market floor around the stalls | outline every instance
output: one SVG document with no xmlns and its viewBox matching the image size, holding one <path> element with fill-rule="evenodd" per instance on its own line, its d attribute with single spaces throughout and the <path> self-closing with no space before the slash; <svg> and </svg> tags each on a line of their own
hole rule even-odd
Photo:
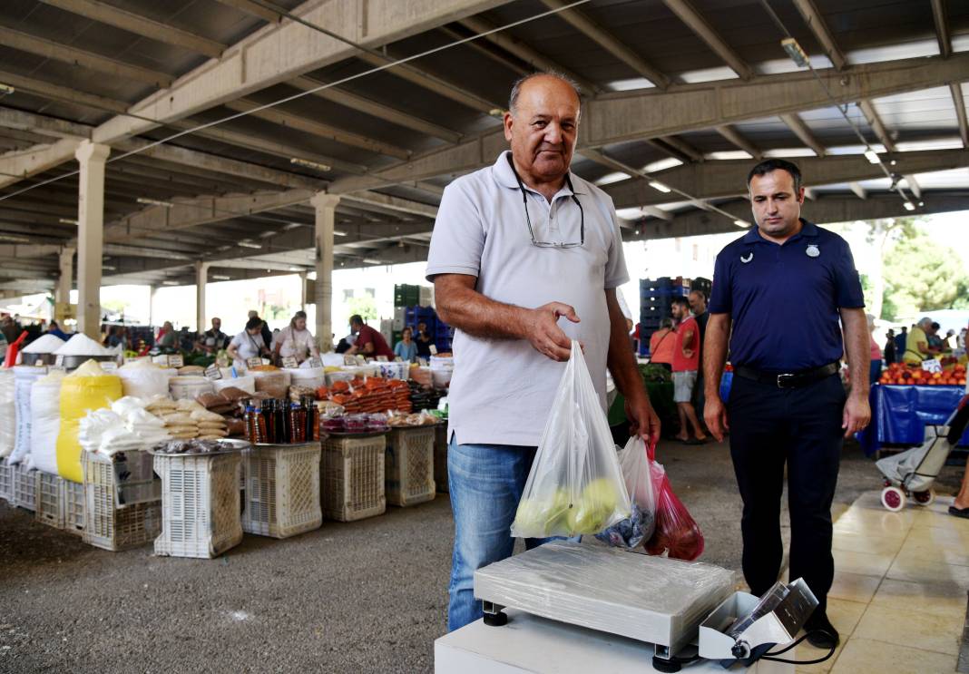
<svg viewBox="0 0 969 674">
<path fill-rule="evenodd" d="M 740 503 L 724 445 L 660 460 L 706 539 L 739 569 Z M 937 490 L 953 491 L 961 468 Z M 846 448 L 839 511 L 880 486 Z M 217 560 L 110 553 L 0 504 L 0 672 L 427 672 L 445 631 L 447 496 L 289 540 L 245 536 Z"/>
</svg>

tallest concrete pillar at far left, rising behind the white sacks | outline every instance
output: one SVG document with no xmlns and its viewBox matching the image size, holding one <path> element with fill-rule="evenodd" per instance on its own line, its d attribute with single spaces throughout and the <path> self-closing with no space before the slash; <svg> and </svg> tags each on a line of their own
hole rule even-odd
<svg viewBox="0 0 969 674">
<path fill-rule="evenodd" d="M 101 256 L 105 239 L 105 162 L 108 145 L 83 140 L 75 156 L 78 185 L 78 332 L 101 335 Z"/>
</svg>

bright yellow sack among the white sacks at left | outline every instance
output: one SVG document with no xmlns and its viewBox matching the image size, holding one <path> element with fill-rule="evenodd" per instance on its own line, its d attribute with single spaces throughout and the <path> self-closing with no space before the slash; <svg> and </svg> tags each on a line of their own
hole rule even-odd
<svg viewBox="0 0 969 674">
<path fill-rule="evenodd" d="M 88 360 L 64 378 L 60 391 L 60 430 L 57 434 L 57 473 L 72 482 L 82 482 L 80 470 L 80 419 L 91 410 L 101 410 L 123 395 L 121 378 L 105 373 Z"/>
</svg>

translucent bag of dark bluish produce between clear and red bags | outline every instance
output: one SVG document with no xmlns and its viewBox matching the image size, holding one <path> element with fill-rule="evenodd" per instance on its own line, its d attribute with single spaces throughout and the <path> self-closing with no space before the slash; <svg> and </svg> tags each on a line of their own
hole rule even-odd
<svg viewBox="0 0 969 674">
<path fill-rule="evenodd" d="M 626 480 L 626 491 L 632 500 L 632 514 L 616 522 L 596 538 L 613 547 L 634 548 L 649 540 L 655 530 L 656 495 L 649 472 L 649 456 L 642 438 L 630 438 L 619 450 L 619 467 Z"/>
</svg>

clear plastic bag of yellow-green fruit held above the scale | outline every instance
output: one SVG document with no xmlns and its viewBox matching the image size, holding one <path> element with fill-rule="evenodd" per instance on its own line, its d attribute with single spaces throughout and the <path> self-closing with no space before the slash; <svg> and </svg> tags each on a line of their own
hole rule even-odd
<svg viewBox="0 0 969 674">
<path fill-rule="evenodd" d="M 609 422 L 573 340 L 512 536 L 598 534 L 630 513 Z"/>
</svg>

